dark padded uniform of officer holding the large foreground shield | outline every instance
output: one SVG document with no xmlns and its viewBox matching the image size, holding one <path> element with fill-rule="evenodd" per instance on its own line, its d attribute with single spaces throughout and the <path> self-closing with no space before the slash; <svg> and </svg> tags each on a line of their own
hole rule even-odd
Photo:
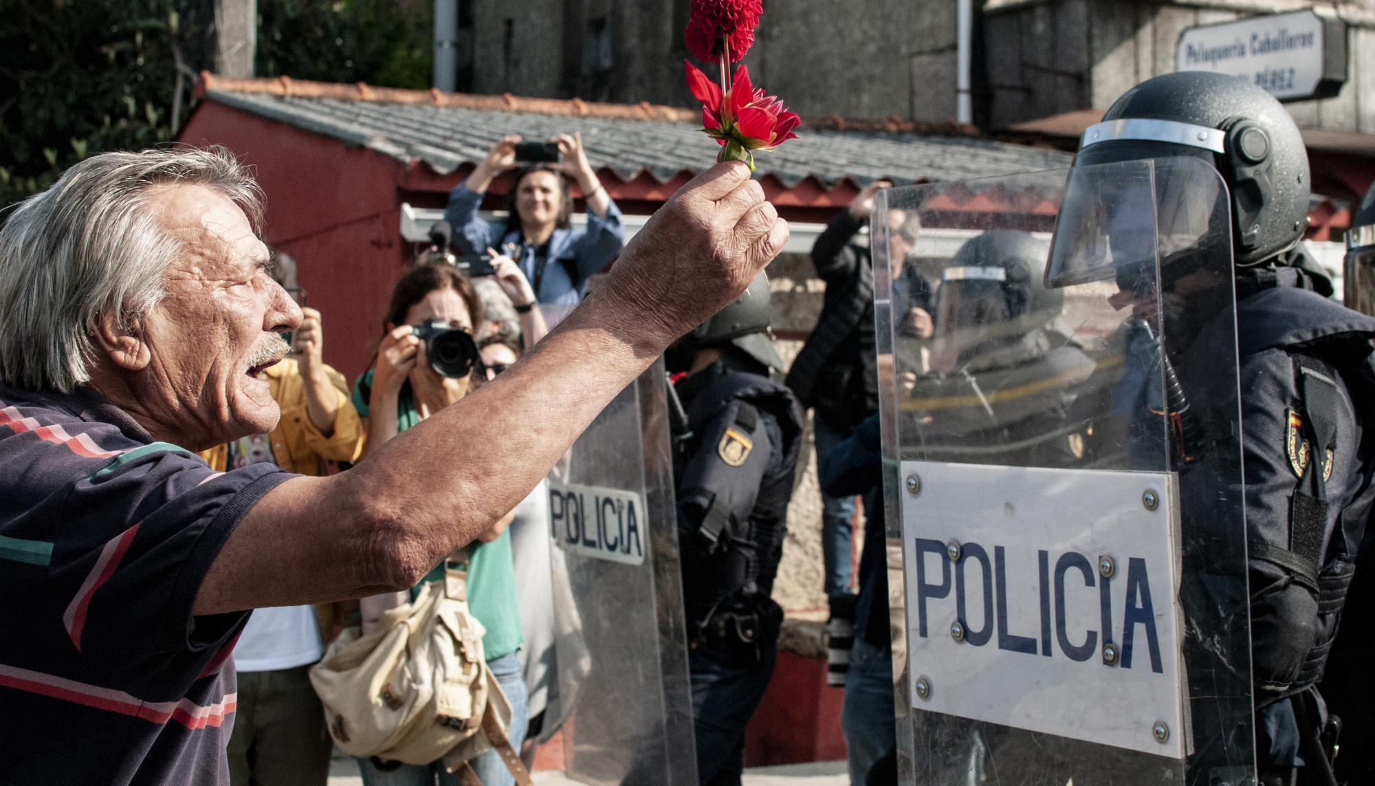
<svg viewBox="0 0 1375 786">
<path fill-rule="evenodd" d="M 1275 287 L 1238 304 L 1262 765 L 1299 761 L 1292 706 L 1279 699 L 1323 676 L 1356 565 L 1368 551 L 1372 338 L 1375 319 L 1313 291 Z M 1346 618 L 1346 632 L 1368 636 L 1367 609 L 1348 606 Z"/>
</svg>

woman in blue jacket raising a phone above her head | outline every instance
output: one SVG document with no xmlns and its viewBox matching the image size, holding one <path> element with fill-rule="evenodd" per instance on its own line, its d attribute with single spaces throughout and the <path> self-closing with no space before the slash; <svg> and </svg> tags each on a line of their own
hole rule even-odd
<svg viewBox="0 0 1375 786">
<path fill-rule="evenodd" d="M 480 218 L 477 207 L 492 180 L 522 164 L 507 196 L 506 223 Z M 586 229 L 572 228 L 573 199 L 565 176 L 578 180 L 587 202 Z M 459 229 L 468 251 L 485 249 L 495 256 L 492 249 L 499 249 L 512 257 L 544 304 L 578 304 L 587 279 L 624 243 L 620 209 L 597 180 L 579 133 L 547 143 L 503 137 L 450 194 L 444 218 Z"/>
</svg>

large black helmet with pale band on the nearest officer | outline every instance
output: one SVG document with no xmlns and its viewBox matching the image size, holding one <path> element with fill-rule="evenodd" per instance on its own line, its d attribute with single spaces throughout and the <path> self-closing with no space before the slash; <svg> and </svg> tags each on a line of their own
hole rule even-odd
<svg viewBox="0 0 1375 786">
<path fill-rule="evenodd" d="M 1136 85 L 1084 132 L 1074 164 L 1177 155 L 1210 162 L 1226 181 L 1239 267 L 1266 262 L 1304 236 L 1304 139 L 1280 102 L 1243 77 L 1180 71 Z"/>
</svg>

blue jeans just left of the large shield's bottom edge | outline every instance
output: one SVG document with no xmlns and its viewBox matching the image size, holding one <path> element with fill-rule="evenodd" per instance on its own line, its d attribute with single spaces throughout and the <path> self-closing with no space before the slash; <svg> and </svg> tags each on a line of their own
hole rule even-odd
<svg viewBox="0 0 1375 786">
<path fill-rule="evenodd" d="M 840 709 L 851 783 L 862 785 L 869 768 L 898 745 L 896 727 L 892 653 L 855 638 L 850 649 L 850 673 L 846 675 L 846 698 Z"/>
</svg>

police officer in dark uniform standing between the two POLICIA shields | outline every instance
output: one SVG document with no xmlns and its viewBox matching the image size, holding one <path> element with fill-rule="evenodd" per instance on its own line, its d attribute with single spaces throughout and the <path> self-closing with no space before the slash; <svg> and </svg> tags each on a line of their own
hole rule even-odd
<svg viewBox="0 0 1375 786">
<path fill-rule="evenodd" d="M 703 783 L 738 785 L 744 731 L 773 675 L 773 602 L 802 437 L 796 400 L 769 378 L 763 273 L 666 356 L 689 671 Z M 681 407 L 678 403 L 681 401 Z"/>
</svg>

